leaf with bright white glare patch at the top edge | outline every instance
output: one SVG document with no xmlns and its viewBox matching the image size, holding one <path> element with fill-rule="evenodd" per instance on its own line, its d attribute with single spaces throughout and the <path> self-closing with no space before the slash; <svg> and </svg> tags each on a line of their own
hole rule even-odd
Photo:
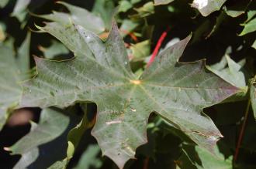
<svg viewBox="0 0 256 169">
<path fill-rule="evenodd" d="M 207 16 L 212 12 L 220 10 L 221 6 L 227 0 L 194 0 L 193 8 L 197 8 L 203 16 Z"/>
</svg>

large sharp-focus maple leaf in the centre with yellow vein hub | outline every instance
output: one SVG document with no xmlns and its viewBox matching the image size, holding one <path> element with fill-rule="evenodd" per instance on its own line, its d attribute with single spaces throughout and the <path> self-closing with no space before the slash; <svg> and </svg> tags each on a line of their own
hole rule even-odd
<svg viewBox="0 0 256 169">
<path fill-rule="evenodd" d="M 147 143 L 152 112 L 208 150 L 222 137 L 202 108 L 220 103 L 238 89 L 209 72 L 205 60 L 177 62 L 190 36 L 161 52 L 137 79 L 116 24 L 106 42 L 80 25 L 65 29 L 52 22 L 41 29 L 55 35 L 76 57 L 64 62 L 35 58 L 38 75 L 22 84 L 22 106 L 96 103 L 92 135 L 102 154 L 120 168 L 134 158 L 138 146 Z"/>
</svg>

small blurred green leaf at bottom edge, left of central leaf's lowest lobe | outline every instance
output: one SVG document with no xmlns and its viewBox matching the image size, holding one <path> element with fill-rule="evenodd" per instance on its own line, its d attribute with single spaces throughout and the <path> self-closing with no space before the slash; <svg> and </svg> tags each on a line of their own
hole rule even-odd
<svg viewBox="0 0 256 169">
<path fill-rule="evenodd" d="M 74 169 L 89 169 L 91 167 L 99 168 L 102 161 L 97 157 L 100 153 L 98 145 L 89 145 L 85 152 L 81 155 L 78 165 Z"/>
</svg>

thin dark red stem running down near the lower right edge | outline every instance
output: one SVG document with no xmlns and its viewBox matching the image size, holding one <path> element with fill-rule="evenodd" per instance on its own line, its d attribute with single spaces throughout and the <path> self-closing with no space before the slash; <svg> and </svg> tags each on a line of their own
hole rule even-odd
<svg viewBox="0 0 256 169">
<path fill-rule="evenodd" d="M 240 134 L 239 134 L 238 141 L 237 141 L 237 147 L 236 147 L 236 151 L 235 151 L 235 154 L 234 154 L 234 162 L 237 161 L 237 157 L 238 157 L 239 149 L 240 149 L 240 144 L 242 143 L 242 140 L 243 140 L 243 137 L 244 137 L 244 130 L 245 130 L 245 127 L 246 127 L 250 106 L 251 106 L 251 100 L 248 100 L 246 111 L 244 113 L 244 122 L 243 122 L 242 128 L 240 130 Z"/>
</svg>

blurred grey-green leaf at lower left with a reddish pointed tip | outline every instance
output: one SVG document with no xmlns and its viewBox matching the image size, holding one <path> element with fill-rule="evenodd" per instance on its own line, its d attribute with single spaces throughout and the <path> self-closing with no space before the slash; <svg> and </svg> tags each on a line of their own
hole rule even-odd
<svg viewBox="0 0 256 169">
<path fill-rule="evenodd" d="M 33 124 L 29 134 L 8 148 L 12 154 L 22 155 L 16 168 L 25 168 L 36 161 L 39 156 L 38 147 L 59 137 L 67 129 L 69 122 L 69 117 L 63 113 L 44 109 L 40 116 L 40 122 L 37 125 Z"/>
</svg>

